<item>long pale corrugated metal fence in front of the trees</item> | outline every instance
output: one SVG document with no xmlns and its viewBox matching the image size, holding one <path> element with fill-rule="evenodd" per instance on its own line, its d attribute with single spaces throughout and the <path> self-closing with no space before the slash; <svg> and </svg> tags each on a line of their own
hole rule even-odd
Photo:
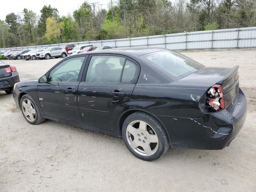
<svg viewBox="0 0 256 192">
<path fill-rule="evenodd" d="M 256 48 L 256 27 L 220 29 L 196 32 L 184 32 L 166 35 L 144 36 L 124 39 L 97 40 L 85 42 L 70 42 L 76 45 L 93 44 L 94 46 L 111 47 L 162 47 L 172 50 L 186 49 L 219 49 L 219 48 Z M 40 46 L 15 47 L 15 49 L 38 49 L 49 46 L 61 46 L 63 44 L 51 44 Z M 13 48 L 5 48 L 14 49 Z"/>
</svg>

